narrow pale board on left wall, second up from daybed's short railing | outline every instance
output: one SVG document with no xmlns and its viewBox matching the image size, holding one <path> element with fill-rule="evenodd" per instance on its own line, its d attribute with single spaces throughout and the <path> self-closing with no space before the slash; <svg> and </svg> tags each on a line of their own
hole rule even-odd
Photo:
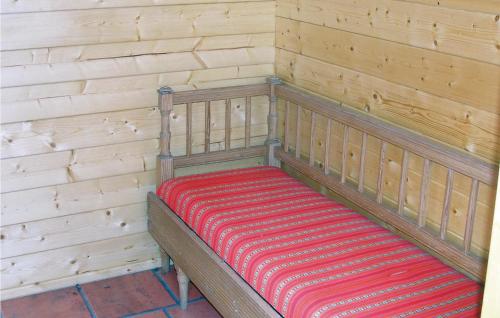
<svg viewBox="0 0 500 318">
<path fill-rule="evenodd" d="M 4 87 L 34 85 L 121 77 L 151 73 L 168 73 L 234 65 L 268 64 L 273 62 L 273 48 L 245 48 L 140 55 L 84 62 L 11 66 L 3 69 Z M 117 67 L 118 66 L 118 67 Z"/>
</svg>

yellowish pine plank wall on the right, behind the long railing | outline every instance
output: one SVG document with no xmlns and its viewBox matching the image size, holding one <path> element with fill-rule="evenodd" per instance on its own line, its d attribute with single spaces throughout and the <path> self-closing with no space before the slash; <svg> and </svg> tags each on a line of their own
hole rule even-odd
<svg viewBox="0 0 500 318">
<path fill-rule="evenodd" d="M 499 14 L 498 0 L 278 0 L 276 73 L 293 85 L 498 163 Z M 293 105 L 292 122 L 295 109 Z M 310 114 L 302 111 L 301 117 L 302 151 L 307 155 Z M 325 122 L 316 122 L 313 145 L 319 158 Z M 337 171 L 342 136 L 343 127 L 332 127 L 331 165 Z M 293 146 L 293 134 L 290 139 Z M 349 135 L 347 177 L 353 181 L 358 178 L 361 140 L 360 132 Z M 365 183 L 372 189 L 379 149 L 380 143 L 368 138 Z M 402 151 L 389 146 L 384 191 L 385 199 L 394 203 L 401 162 Z M 423 160 L 410 156 L 409 163 L 405 202 L 415 212 Z M 446 170 L 434 165 L 428 222 L 435 227 L 441 220 L 445 182 Z M 449 234 L 460 241 L 471 181 L 456 175 L 453 187 Z M 473 237 L 478 254 L 488 248 L 494 199 L 494 189 L 480 186 Z"/>
</svg>

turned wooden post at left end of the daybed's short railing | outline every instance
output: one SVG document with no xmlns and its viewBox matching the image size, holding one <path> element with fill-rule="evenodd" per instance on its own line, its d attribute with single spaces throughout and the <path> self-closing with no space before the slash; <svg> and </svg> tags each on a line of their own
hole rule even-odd
<svg viewBox="0 0 500 318">
<path fill-rule="evenodd" d="M 174 108 L 173 93 L 174 91 L 170 87 L 161 87 L 158 89 L 158 106 L 161 113 L 158 185 L 174 177 L 174 157 L 170 152 L 170 113 Z"/>
</svg>

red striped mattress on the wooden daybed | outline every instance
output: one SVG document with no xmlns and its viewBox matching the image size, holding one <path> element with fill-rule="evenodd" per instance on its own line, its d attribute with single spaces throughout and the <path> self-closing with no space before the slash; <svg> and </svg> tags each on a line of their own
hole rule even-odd
<svg viewBox="0 0 500 318">
<path fill-rule="evenodd" d="M 481 287 L 278 168 L 179 177 L 157 194 L 285 317 L 477 317 Z"/>
</svg>

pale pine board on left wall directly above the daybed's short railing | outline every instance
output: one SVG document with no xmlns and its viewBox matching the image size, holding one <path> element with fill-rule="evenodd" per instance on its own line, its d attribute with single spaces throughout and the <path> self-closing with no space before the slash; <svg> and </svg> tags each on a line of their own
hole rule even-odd
<svg viewBox="0 0 500 318">
<path fill-rule="evenodd" d="M 66 88 L 74 91 L 66 96 L 41 97 L 28 99 L 40 89 L 51 90 L 52 85 L 22 86 L 4 89 L 12 99 L 2 105 L 2 123 L 36 120 L 44 118 L 67 117 L 116 110 L 154 107 L 158 103 L 155 90 L 149 87 L 162 86 L 164 83 L 177 90 L 194 89 L 217 85 L 218 81 L 238 81 L 244 83 L 261 82 L 263 77 L 273 71 L 273 64 L 233 66 L 203 69 L 196 71 L 151 74 L 113 79 L 87 80 L 85 84 L 67 82 Z M 55 84 L 57 87 L 59 85 Z M 78 91 L 76 88 L 80 88 Z M 105 88 L 108 88 L 106 91 Z M 45 95 L 50 94 L 45 92 Z M 5 97 L 6 99 L 9 97 Z"/>
</svg>

